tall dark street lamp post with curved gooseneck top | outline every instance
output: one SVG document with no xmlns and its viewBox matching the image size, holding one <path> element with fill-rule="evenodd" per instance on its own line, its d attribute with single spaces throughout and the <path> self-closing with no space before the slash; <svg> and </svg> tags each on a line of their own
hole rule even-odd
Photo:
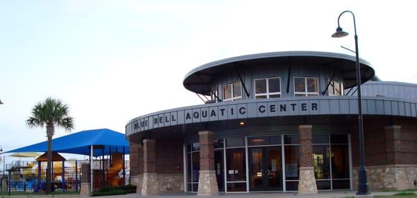
<svg viewBox="0 0 417 198">
<path fill-rule="evenodd" d="M 359 169 L 358 169 L 358 192 L 357 195 L 369 195 L 368 179 L 366 176 L 365 154 L 363 150 L 363 119 L 362 119 L 362 97 L 361 97 L 361 69 L 359 66 L 359 49 L 358 49 L 358 35 L 356 31 L 356 22 L 354 14 L 350 10 L 345 10 L 337 19 L 336 33 L 332 35 L 333 38 L 341 38 L 348 35 L 340 26 L 340 19 L 344 13 L 350 13 L 353 17 L 354 26 L 354 47 L 356 53 L 356 77 L 358 90 L 358 122 L 359 122 Z"/>
</svg>

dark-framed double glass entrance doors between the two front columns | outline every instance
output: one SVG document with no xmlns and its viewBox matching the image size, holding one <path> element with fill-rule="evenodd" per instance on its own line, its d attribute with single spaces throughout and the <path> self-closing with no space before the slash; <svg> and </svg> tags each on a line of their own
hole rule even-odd
<svg viewBox="0 0 417 198">
<path fill-rule="evenodd" d="M 283 190 L 281 165 L 281 147 L 249 148 L 250 190 Z"/>
</svg>

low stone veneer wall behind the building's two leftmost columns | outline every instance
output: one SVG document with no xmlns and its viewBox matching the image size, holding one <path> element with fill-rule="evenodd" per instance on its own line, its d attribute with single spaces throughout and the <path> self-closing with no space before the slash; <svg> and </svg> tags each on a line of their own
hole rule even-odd
<svg viewBox="0 0 417 198">
<path fill-rule="evenodd" d="M 132 185 L 142 185 L 142 174 L 131 176 Z M 159 192 L 184 192 L 183 174 L 156 174 Z"/>
</svg>

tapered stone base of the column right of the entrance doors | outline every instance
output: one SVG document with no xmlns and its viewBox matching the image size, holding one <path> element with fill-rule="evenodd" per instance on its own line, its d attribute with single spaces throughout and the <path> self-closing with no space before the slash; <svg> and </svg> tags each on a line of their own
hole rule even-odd
<svg viewBox="0 0 417 198">
<path fill-rule="evenodd" d="M 316 177 L 314 177 L 314 167 L 300 167 L 298 194 L 317 194 Z"/>
</svg>

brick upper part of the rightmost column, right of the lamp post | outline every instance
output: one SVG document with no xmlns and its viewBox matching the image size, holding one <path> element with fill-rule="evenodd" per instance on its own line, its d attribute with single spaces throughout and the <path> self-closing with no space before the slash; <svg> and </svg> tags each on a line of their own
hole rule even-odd
<svg viewBox="0 0 417 198">
<path fill-rule="evenodd" d="M 386 165 L 401 164 L 401 126 L 386 126 L 385 138 Z"/>
</svg>

